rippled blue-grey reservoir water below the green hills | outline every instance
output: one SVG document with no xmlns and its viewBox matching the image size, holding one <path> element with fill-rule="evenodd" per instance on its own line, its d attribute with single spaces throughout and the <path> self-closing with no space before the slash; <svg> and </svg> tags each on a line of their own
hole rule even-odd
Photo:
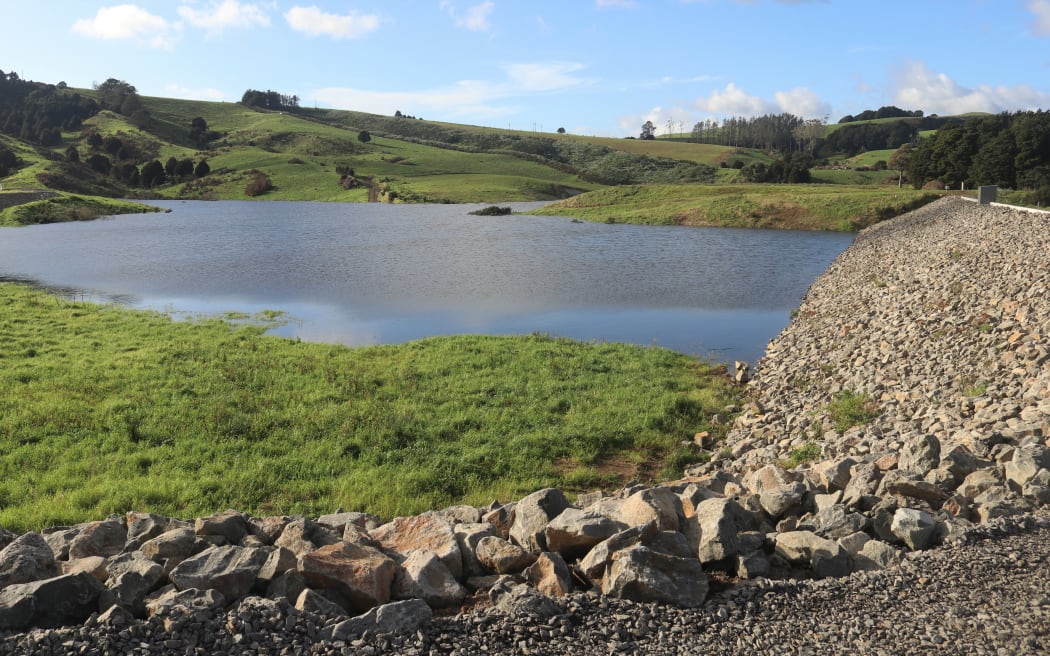
<svg viewBox="0 0 1050 656">
<path fill-rule="evenodd" d="M 155 205 L 171 212 L 0 229 L 0 278 L 176 315 L 284 311 L 273 332 L 310 341 L 543 332 L 754 362 L 853 238 L 480 205 Z"/>
</svg>

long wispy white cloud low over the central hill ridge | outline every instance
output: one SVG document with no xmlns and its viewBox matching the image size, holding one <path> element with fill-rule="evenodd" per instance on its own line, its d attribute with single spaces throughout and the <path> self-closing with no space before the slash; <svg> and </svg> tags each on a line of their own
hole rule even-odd
<svg viewBox="0 0 1050 656">
<path fill-rule="evenodd" d="M 332 107 L 383 114 L 402 110 L 424 118 L 434 113 L 444 118 L 499 117 L 518 111 L 503 104 L 508 100 L 588 83 L 587 79 L 572 75 L 582 68 L 583 65 L 571 62 L 510 64 L 503 68 L 506 79 L 499 82 L 462 80 L 448 86 L 417 91 L 327 87 L 313 91 L 308 98 Z"/>
</svg>

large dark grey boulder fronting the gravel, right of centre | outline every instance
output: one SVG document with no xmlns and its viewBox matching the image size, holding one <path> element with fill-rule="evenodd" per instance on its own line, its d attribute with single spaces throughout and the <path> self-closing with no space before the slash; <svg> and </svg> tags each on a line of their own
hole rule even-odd
<svg viewBox="0 0 1050 656">
<path fill-rule="evenodd" d="M 633 601 L 696 608 L 708 596 L 708 577 L 695 559 L 635 545 L 613 554 L 602 592 Z"/>
</svg>

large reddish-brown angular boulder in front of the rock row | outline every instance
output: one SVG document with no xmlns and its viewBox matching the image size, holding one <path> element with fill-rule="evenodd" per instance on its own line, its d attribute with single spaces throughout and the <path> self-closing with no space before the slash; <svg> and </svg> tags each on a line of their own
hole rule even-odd
<svg viewBox="0 0 1050 656">
<path fill-rule="evenodd" d="M 300 556 L 298 569 L 311 587 L 334 590 L 364 612 L 391 600 L 397 564 L 378 549 L 339 543 Z"/>
</svg>

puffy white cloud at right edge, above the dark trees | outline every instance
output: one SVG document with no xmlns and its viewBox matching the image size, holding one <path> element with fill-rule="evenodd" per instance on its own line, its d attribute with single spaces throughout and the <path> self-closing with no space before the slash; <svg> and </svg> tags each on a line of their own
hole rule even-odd
<svg viewBox="0 0 1050 656">
<path fill-rule="evenodd" d="M 911 62 L 895 75 L 895 104 L 926 113 L 958 114 L 969 111 L 998 113 L 1037 109 L 1050 105 L 1050 94 L 1028 85 L 966 87 L 923 62 Z"/>
</svg>

